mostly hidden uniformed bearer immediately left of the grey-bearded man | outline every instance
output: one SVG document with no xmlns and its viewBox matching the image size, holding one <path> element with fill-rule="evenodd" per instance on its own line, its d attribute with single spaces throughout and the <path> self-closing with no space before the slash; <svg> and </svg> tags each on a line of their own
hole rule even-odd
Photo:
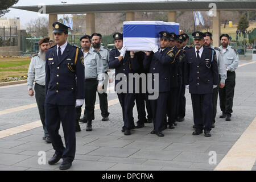
<svg viewBox="0 0 256 182">
<path fill-rule="evenodd" d="M 184 42 L 183 42 L 183 46 L 181 47 L 181 49 L 183 49 L 183 51 L 186 51 L 187 49 L 189 49 L 190 47 L 187 46 L 188 40 L 189 40 L 189 36 L 187 34 L 181 34 L 184 38 Z M 185 52 L 184 52 L 185 53 Z M 181 63 L 181 67 L 182 67 L 182 77 L 184 78 L 184 61 L 183 63 Z M 185 107 L 186 107 L 186 98 L 185 98 L 185 85 L 184 85 L 184 81 L 181 85 L 181 90 L 180 90 L 180 98 L 178 101 L 178 109 L 177 109 L 177 121 L 178 122 L 182 122 L 184 121 L 184 117 L 185 117 Z"/>
</svg>

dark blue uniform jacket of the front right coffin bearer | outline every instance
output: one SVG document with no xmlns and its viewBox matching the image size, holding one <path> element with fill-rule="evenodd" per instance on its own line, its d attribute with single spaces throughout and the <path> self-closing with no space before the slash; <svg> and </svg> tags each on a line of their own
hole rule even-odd
<svg viewBox="0 0 256 182">
<path fill-rule="evenodd" d="M 159 51 L 151 52 L 150 56 L 145 56 L 143 67 L 152 73 L 152 88 L 154 89 L 154 74 L 159 73 L 159 92 L 168 92 L 171 88 L 171 67 L 178 64 L 175 60 L 175 50 L 164 49 L 163 53 Z"/>
</svg>

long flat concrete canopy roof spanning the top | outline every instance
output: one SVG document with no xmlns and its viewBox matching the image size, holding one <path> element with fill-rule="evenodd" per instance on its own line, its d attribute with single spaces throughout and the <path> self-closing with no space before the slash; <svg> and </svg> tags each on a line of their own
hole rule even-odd
<svg viewBox="0 0 256 182">
<path fill-rule="evenodd" d="M 256 10 L 256 1 L 168 1 L 168 2 L 119 2 L 82 3 L 71 5 L 46 5 L 46 14 L 113 13 L 123 11 L 209 11 L 210 3 L 217 10 Z M 38 12 L 38 6 L 13 6 L 14 9 Z"/>
</svg>

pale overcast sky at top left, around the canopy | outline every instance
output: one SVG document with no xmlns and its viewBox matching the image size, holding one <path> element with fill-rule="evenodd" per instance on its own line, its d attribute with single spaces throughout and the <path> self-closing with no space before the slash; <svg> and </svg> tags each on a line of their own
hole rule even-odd
<svg viewBox="0 0 256 182">
<path fill-rule="evenodd" d="M 66 1 L 67 4 L 77 4 L 77 3 L 107 3 L 107 2 L 150 2 L 150 1 L 167 1 L 167 0 L 19 0 L 14 6 L 34 6 L 40 5 L 40 3 L 44 3 L 45 5 L 60 5 L 61 1 Z M 170 1 L 170 0 L 169 0 Z M 182 1 L 182 0 L 179 0 Z M 185 0 L 187 1 L 187 0 Z M 48 15 L 45 15 L 48 17 Z M 7 18 L 20 18 L 20 25 L 26 26 L 31 19 L 37 19 L 39 17 L 38 13 L 34 13 L 31 11 L 25 10 L 17 10 L 17 9 L 10 9 L 10 12 L 5 14 L 4 17 Z M 58 18 L 61 18 L 62 15 L 59 15 Z"/>
</svg>

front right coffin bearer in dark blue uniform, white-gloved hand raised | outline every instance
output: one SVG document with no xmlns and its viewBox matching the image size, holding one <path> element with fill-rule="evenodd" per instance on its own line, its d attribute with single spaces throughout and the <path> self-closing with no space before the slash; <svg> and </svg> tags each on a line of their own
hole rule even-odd
<svg viewBox="0 0 256 182">
<path fill-rule="evenodd" d="M 171 67 L 176 64 L 174 49 L 168 48 L 170 35 L 167 31 L 159 32 L 160 34 L 160 49 L 156 45 L 150 45 L 154 52 L 146 51 L 146 57 L 143 60 L 143 67 L 152 74 L 152 88 L 158 92 L 158 98 L 150 100 L 152 116 L 154 121 L 154 130 L 151 134 L 156 134 L 158 137 L 164 137 L 162 133 L 164 118 L 167 113 L 167 100 L 171 90 Z M 159 75 L 159 80 L 155 80 L 155 74 Z M 159 88 L 155 88 L 155 81 L 158 81 Z"/>
</svg>

